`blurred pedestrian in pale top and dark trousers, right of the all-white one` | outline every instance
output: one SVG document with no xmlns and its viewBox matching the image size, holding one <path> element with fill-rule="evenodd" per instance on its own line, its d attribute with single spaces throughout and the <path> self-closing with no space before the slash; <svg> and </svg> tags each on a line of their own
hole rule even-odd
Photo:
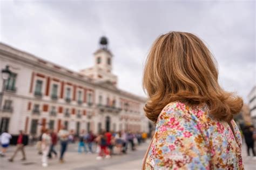
<svg viewBox="0 0 256 170">
<path fill-rule="evenodd" d="M 58 133 L 58 137 L 60 140 L 60 157 L 59 157 L 59 162 L 63 163 L 64 162 L 64 153 L 66 152 L 66 149 L 68 147 L 68 141 L 69 141 L 69 132 L 65 126 L 62 126 Z"/>
</svg>

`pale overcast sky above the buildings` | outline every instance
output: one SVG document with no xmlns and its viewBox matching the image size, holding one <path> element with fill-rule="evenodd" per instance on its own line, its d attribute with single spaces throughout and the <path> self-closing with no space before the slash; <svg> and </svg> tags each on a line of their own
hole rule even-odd
<svg viewBox="0 0 256 170">
<path fill-rule="evenodd" d="M 0 1 L 1 42 L 78 71 L 109 38 L 120 89 L 145 95 L 142 71 L 154 39 L 192 32 L 217 58 L 220 84 L 247 100 L 256 85 L 254 1 Z"/>
</svg>

